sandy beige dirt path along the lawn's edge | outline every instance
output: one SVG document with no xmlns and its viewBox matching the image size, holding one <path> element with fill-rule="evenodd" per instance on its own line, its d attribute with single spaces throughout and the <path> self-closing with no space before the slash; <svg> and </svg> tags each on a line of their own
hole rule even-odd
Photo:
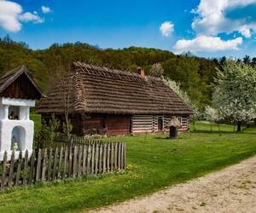
<svg viewBox="0 0 256 213">
<path fill-rule="evenodd" d="M 147 197 L 91 212 L 256 212 L 256 156 Z"/>
</svg>

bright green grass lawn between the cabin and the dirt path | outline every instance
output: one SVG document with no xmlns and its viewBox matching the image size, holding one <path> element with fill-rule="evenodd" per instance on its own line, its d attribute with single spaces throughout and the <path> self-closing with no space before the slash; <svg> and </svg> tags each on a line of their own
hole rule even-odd
<svg viewBox="0 0 256 213">
<path fill-rule="evenodd" d="M 233 126 L 196 124 L 196 132 L 178 140 L 166 135 L 115 137 L 127 143 L 127 163 L 135 169 L 75 181 L 38 184 L 0 193 L 0 212 L 79 212 L 153 193 L 166 186 L 203 176 L 256 153 L 256 130 L 234 134 Z"/>
</svg>

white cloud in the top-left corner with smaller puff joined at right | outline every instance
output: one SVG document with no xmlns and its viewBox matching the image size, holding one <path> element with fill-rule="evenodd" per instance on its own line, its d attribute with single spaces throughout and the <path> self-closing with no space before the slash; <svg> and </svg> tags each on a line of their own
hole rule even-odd
<svg viewBox="0 0 256 213">
<path fill-rule="evenodd" d="M 42 23 L 44 19 L 38 14 L 26 12 L 22 14 L 22 7 L 18 3 L 0 0 L 0 27 L 9 32 L 19 32 L 20 22 L 32 21 L 33 23 Z"/>
</svg>

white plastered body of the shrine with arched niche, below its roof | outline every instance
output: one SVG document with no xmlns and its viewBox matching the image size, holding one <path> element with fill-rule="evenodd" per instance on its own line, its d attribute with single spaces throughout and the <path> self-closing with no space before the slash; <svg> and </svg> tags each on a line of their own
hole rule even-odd
<svg viewBox="0 0 256 213">
<path fill-rule="evenodd" d="M 18 158 L 20 150 L 32 154 L 34 123 L 29 118 L 29 112 L 34 106 L 35 101 L 32 100 L 0 98 L 0 160 L 5 151 L 10 158 L 14 136 L 19 147 L 15 158 Z M 11 112 L 15 112 L 17 119 L 9 119 Z"/>
</svg>

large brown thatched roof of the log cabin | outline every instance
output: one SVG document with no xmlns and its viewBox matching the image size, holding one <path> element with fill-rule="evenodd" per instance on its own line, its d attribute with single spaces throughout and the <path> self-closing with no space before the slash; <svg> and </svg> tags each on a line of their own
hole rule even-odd
<svg viewBox="0 0 256 213">
<path fill-rule="evenodd" d="M 63 113 L 67 105 L 70 112 L 85 113 L 192 113 L 160 78 L 143 78 L 137 73 L 80 62 L 73 63 L 69 76 L 56 83 L 48 97 L 42 99 L 38 112 Z"/>
</svg>

